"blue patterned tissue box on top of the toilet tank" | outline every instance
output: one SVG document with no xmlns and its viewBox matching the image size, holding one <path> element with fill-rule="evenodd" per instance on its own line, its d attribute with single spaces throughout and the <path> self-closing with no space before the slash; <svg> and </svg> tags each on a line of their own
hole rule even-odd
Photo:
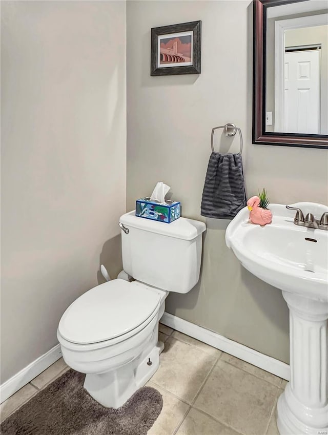
<svg viewBox="0 0 328 435">
<path fill-rule="evenodd" d="M 135 215 L 145 219 L 171 223 L 180 217 L 180 202 L 169 200 L 166 202 L 151 201 L 149 196 L 137 199 Z"/>
</svg>

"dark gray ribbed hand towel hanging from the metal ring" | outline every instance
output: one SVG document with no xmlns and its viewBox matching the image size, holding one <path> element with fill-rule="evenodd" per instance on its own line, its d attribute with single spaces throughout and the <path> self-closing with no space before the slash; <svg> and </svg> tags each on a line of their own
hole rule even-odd
<svg viewBox="0 0 328 435">
<path fill-rule="evenodd" d="M 200 214 L 216 219 L 233 219 L 245 205 L 241 154 L 213 152 L 207 168 Z"/>
</svg>

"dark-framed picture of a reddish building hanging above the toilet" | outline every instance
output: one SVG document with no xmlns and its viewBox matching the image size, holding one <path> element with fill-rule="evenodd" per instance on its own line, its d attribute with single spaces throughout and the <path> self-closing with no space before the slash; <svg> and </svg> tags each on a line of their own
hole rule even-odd
<svg viewBox="0 0 328 435">
<path fill-rule="evenodd" d="M 150 75 L 200 74 L 201 21 L 151 29 Z"/>
</svg>

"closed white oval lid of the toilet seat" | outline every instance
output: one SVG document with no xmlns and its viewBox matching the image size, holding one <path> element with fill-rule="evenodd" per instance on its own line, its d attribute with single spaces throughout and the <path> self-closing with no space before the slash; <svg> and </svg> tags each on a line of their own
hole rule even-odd
<svg viewBox="0 0 328 435">
<path fill-rule="evenodd" d="M 160 296 L 122 279 L 97 285 L 77 298 L 60 319 L 59 334 L 72 343 L 110 340 L 130 332 L 155 311 Z"/>
</svg>

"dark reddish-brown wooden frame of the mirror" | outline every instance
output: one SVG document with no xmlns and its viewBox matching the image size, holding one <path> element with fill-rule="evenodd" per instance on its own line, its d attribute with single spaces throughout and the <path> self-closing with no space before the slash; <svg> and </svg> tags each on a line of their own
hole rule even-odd
<svg viewBox="0 0 328 435">
<path fill-rule="evenodd" d="M 328 149 L 328 135 L 265 131 L 267 8 L 308 0 L 253 0 L 253 126 L 252 143 Z"/>
</svg>

